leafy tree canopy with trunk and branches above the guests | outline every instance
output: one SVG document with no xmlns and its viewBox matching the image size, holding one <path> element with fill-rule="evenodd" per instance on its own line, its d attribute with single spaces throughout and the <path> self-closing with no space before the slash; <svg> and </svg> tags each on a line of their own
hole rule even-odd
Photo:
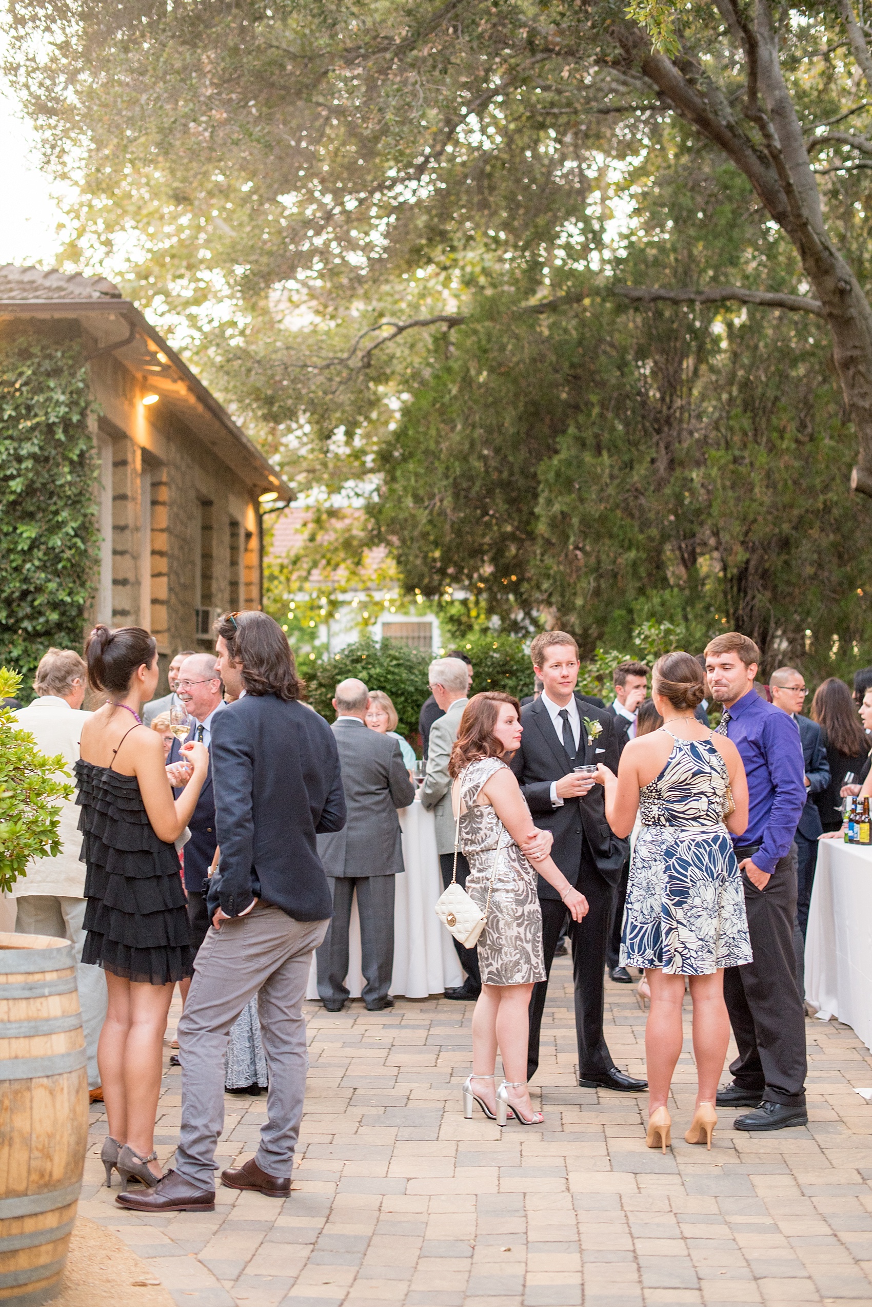
<svg viewBox="0 0 872 1307">
<path fill-rule="evenodd" d="M 587 648 L 649 617 L 771 656 L 863 638 L 849 0 L 12 0 L 8 24 L 78 187 L 69 256 L 123 264 L 300 494 L 366 508 L 352 552 L 505 621 L 544 605 Z"/>
</svg>

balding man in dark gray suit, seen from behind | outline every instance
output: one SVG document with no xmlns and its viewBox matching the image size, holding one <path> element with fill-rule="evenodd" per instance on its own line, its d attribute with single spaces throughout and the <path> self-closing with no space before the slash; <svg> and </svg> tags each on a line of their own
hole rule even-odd
<svg viewBox="0 0 872 1307">
<path fill-rule="evenodd" d="M 356 890 L 363 1001 L 368 1012 L 381 1012 L 394 1005 L 388 996 L 394 965 L 394 876 L 405 870 L 397 808 L 413 802 L 415 787 L 399 744 L 366 724 L 369 691 L 363 681 L 341 681 L 333 707 L 349 821 L 339 831 L 319 835 L 319 856 L 333 897 L 333 920 L 317 950 L 319 995 L 328 1012 L 342 1012 L 349 997 L 345 978 Z"/>
</svg>

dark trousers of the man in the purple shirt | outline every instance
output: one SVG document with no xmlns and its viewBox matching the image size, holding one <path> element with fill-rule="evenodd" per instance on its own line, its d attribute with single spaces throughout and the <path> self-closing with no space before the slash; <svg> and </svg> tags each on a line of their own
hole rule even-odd
<svg viewBox="0 0 872 1307">
<path fill-rule="evenodd" d="M 805 1103 L 805 1010 L 796 985 L 794 919 L 796 846 L 775 864 L 765 890 L 741 873 L 755 959 L 726 967 L 723 996 L 739 1056 L 730 1065 L 741 1089 L 764 1102 Z"/>
</svg>

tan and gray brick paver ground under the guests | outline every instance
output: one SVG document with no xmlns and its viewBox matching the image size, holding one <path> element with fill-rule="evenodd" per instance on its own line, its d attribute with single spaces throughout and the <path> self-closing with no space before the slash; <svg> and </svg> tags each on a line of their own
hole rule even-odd
<svg viewBox="0 0 872 1307">
<path fill-rule="evenodd" d="M 570 971 L 557 959 L 538 1084 L 546 1124 L 466 1121 L 471 1005 L 392 1012 L 307 1004 L 309 1094 L 286 1201 L 218 1188 L 214 1213 L 138 1217 L 99 1188 L 93 1110 L 80 1210 L 110 1225 L 178 1307 L 654 1307 L 872 1300 L 872 1056 L 854 1031 L 807 1022 L 809 1125 L 749 1136 L 721 1114 L 713 1149 L 684 1142 L 693 1103 L 689 999 L 670 1110 L 645 1148 L 645 1097 L 578 1089 Z M 644 1073 L 645 1017 L 608 985 L 607 1039 Z M 171 1165 L 179 1072 L 157 1148 Z M 222 1166 L 252 1155 L 265 1098 L 227 1097 Z M 123 1293 L 120 1300 L 123 1302 Z"/>
</svg>

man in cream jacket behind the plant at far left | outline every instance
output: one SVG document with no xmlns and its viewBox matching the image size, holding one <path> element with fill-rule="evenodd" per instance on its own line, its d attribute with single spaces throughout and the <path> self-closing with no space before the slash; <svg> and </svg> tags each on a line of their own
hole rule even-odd
<svg viewBox="0 0 872 1307">
<path fill-rule="evenodd" d="M 81 712 L 87 673 L 74 650 L 48 650 L 39 660 L 34 690 L 38 698 L 17 714 L 18 724 L 30 731 L 42 753 L 60 753 L 72 772 L 78 759 L 78 741 L 90 712 Z M 63 778 L 68 780 L 68 776 Z M 97 1042 L 106 1018 L 106 976 L 101 967 L 82 965 L 85 945 L 85 863 L 80 861 L 82 836 L 74 799 L 60 800 L 57 857 L 38 857 L 27 874 L 12 886 L 16 901 L 16 932 L 55 935 L 76 949 L 76 983 L 82 1009 L 87 1087 L 91 1102 L 103 1099 L 97 1067 Z"/>
</svg>

